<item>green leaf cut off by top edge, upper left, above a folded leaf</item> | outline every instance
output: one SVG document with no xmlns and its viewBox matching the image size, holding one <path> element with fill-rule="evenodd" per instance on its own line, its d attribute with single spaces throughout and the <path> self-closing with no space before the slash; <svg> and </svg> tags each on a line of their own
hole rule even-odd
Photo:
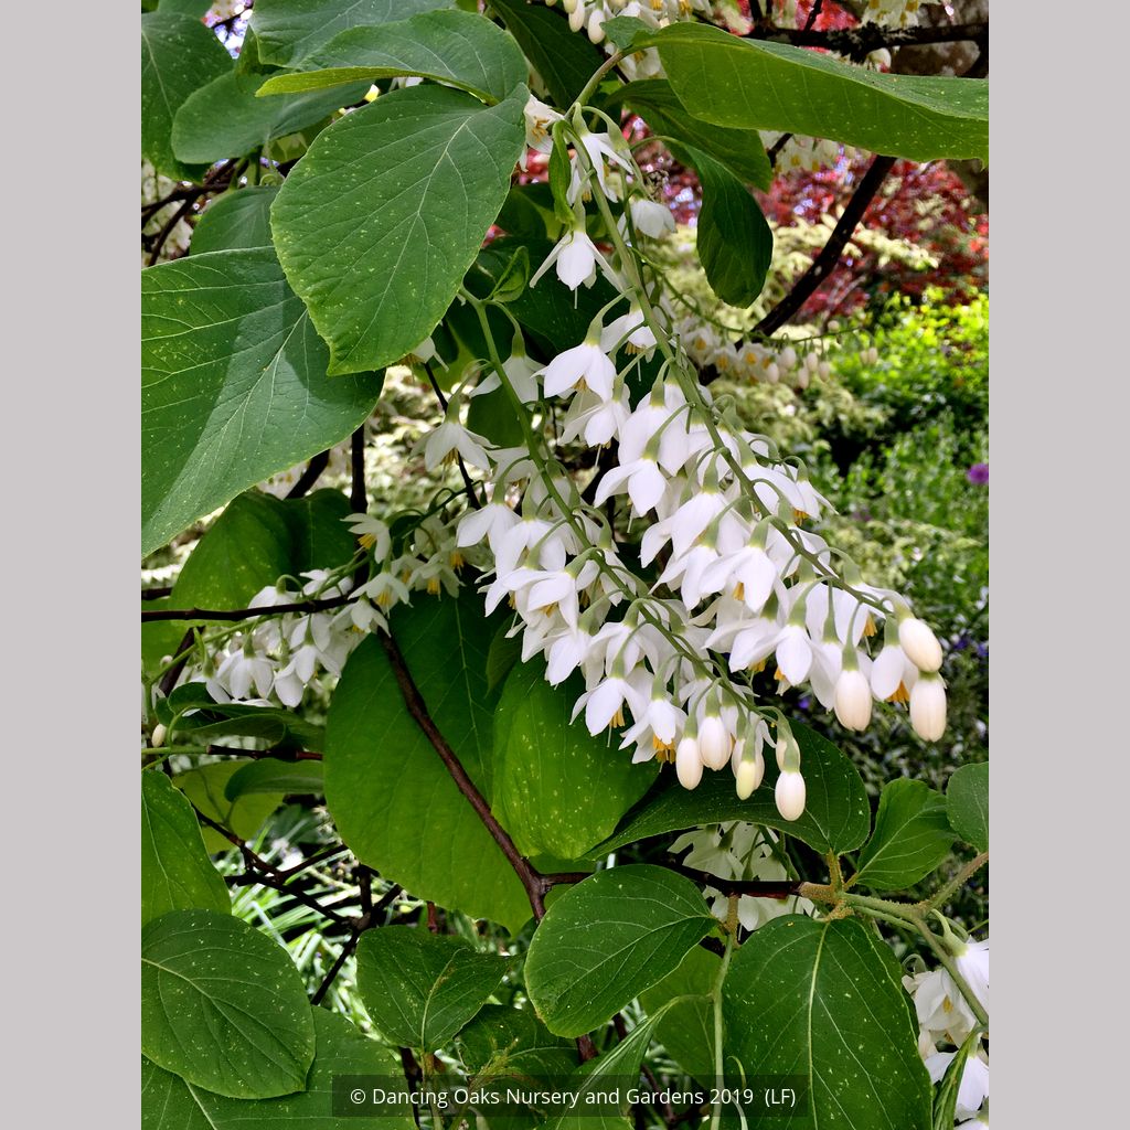
<svg viewBox="0 0 1130 1130">
<path fill-rule="evenodd" d="M 251 27 L 264 63 L 294 67 L 350 27 L 450 8 L 451 0 L 258 0 Z"/>
</svg>

